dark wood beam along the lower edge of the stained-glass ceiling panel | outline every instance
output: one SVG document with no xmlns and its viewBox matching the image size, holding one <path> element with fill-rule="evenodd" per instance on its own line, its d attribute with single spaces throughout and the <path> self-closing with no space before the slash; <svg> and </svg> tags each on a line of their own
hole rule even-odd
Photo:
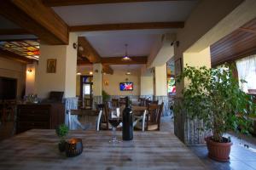
<svg viewBox="0 0 256 170">
<path fill-rule="evenodd" d="M 26 57 L 22 57 L 18 54 L 15 54 L 3 49 L 0 49 L 0 57 L 5 59 L 12 59 L 15 61 L 19 61 L 21 63 L 32 63 L 33 61 L 35 61 L 35 59 L 28 59 Z"/>
</svg>

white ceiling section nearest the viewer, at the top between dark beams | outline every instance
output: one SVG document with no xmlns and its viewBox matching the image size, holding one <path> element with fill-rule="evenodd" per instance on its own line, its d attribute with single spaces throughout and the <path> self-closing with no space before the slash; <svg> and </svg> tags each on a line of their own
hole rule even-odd
<svg viewBox="0 0 256 170">
<path fill-rule="evenodd" d="M 104 3 L 54 7 L 69 26 L 184 21 L 197 0 L 144 3 Z"/>
</svg>

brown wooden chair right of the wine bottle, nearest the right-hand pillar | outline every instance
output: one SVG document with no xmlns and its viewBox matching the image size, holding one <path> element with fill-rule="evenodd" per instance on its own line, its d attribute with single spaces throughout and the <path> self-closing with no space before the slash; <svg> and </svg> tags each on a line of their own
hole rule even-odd
<svg viewBox="0 0 256 170">
<path fill-rule="evenodd" d="M 148 114 L 147 114 L 147 124 L 146 130 L 160 130 L 160 117 L 163 112 L 164 103 L 162 102 L 161 105 L 148 105 Z"/>
</svg>

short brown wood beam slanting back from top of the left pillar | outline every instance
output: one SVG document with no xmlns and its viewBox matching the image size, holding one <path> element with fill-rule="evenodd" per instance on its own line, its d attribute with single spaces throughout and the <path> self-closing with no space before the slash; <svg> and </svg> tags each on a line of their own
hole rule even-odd
<svg viewBox="0 0 256 170">
<path fill-rule="evenodd" d="M 83 50 L 78 50 L 80 57 L 84 57 L 90 61 L 90 63 L 100 63 L 101 56 L 96 52 L 95 48 L 90 45 L 90 42 L 85 37 L 79 37 L 78 39 L 79 46 Z"/>
</svg>

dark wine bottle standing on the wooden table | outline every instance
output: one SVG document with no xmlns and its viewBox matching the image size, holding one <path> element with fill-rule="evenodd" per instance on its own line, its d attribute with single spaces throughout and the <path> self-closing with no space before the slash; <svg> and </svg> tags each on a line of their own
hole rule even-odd
<svg viewBox="0 0 256 170">
<path fill-rule="evenodd" d="M 133 139 L 133 114 L 129 105 L 129 98 L 125 97 L 125 110 L 123 111 L 123 140 Z"/>
</svg>

